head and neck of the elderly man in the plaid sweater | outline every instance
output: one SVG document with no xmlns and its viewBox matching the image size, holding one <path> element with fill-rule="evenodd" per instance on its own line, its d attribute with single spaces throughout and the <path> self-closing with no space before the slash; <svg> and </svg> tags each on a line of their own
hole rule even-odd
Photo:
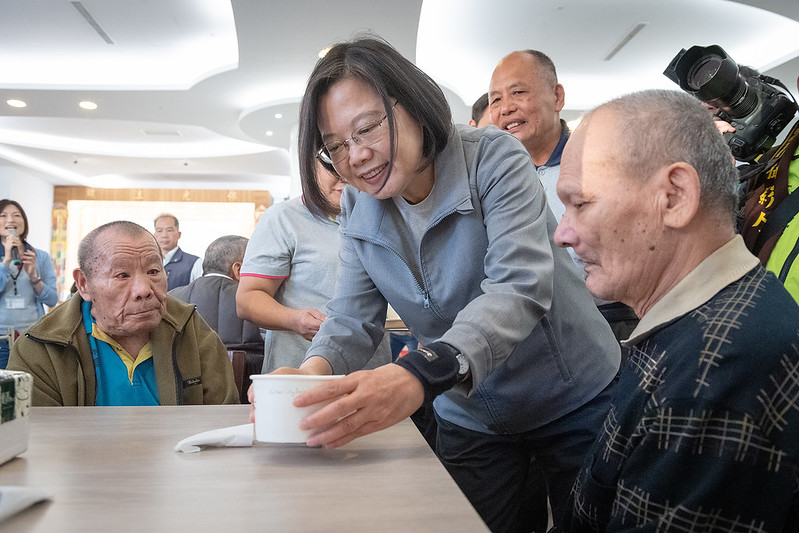
<svg viewBox="0 0 799 533">
<path fill-rule="evenodd" d="M 563 150 L 555 242 L 580 256 L 586 286 L 643 316 L 735 235 L 737 171 L 708 113 L 645 91 L 589 113 Z"/>
</svg>

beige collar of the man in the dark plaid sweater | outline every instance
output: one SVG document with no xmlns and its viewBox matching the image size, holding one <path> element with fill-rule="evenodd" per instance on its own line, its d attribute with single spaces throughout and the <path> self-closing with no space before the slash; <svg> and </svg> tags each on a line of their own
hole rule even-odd
<svg viewBox="0 0 799 533">
<path fill-rule="evenodd" d="M 667 292 L 649 310 L 633 330 L 625 346 L 637 344 L 673 320 L 708 302 L 724 287 L 741 279 L 760 261 L 746 248 L 743 238 L 736 235 L 727 244 L 710 254 L 704 261 Z"/>
</svg>

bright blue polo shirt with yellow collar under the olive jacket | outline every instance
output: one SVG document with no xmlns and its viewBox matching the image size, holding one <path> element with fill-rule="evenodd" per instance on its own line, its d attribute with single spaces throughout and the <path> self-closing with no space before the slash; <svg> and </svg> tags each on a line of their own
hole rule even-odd
<svg viewBox="0 0 799 533">
<path fill-rule="evenodd" d="M 91 314 L 91 302 L 81 304 L 83 324 L 92 348 L 97 376 L 96 405 L 160 405 L 155 379 L 152 344 L 134 358 L 102 331 Z"/>
</svg>

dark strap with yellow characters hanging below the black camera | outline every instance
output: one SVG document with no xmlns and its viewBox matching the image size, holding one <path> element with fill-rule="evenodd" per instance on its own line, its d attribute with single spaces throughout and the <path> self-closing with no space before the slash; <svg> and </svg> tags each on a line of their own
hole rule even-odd
<svg viewBox="0 0 799 533">
<path fill-rule="evenodd" d="M 799 147 L 799 123 L 770 157 L 747 200 L 741 235 L 749 250 L 765 265 L 785 226 L 799 213 L 799 187 L 788 194 L 788 167 Z"/>
</svg>

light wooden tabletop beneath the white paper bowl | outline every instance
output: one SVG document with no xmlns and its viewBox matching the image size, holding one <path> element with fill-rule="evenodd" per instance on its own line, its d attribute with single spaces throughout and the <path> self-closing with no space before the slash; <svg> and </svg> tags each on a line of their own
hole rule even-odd
<svg viewBox="0 0 799 533">
<path fill-rule="evenodd" d="M 413 424 L 342 448 L 173 450 L 249 407 L 35 407 L 0 485 L 55 494 L 2 531 L 487 531 Z"/>
</svg>

